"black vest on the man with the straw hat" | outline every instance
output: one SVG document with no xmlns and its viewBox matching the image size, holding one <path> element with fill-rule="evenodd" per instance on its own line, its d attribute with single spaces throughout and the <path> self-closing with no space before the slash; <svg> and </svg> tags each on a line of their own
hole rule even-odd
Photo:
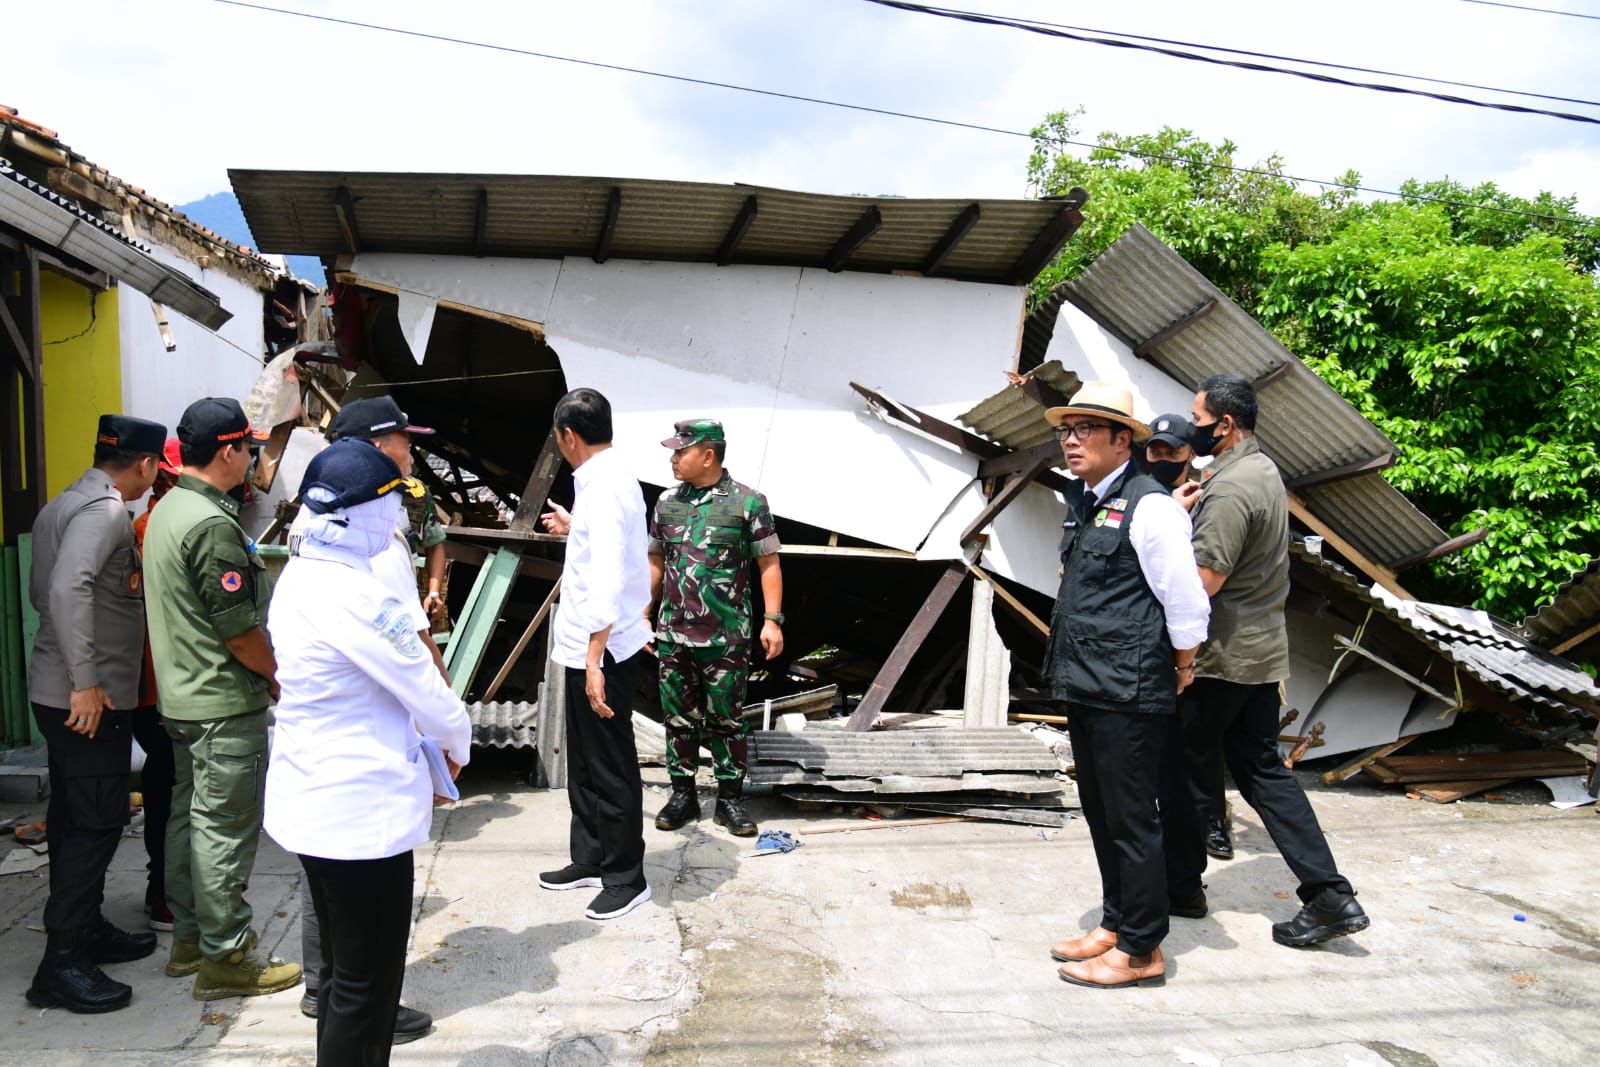
<svg viewBox="0 0 1600 1067">
<path fill-rule="evenodd" d="M 1128 539 L 1133 509 L 1150 493 L 1165 491 L 1130 464 L 1098 507 L 1082 498 L 1069 501 L 1061 589 L 1045 656 L 1045 678 L 1058 701 L 1107 712 L 1176 710 L 1166 613 Z"/>
</svg>

